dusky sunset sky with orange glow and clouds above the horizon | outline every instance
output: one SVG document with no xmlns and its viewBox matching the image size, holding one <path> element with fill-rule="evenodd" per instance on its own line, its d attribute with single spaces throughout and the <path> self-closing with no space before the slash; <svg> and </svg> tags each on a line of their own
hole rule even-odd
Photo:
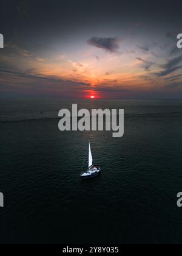
<svg viewBox="0 0 182 256">
<path fill-rule="evenodd" d="M 182 2 L 1 0 L 0 98 L 181 99 Z"/>
</svg>

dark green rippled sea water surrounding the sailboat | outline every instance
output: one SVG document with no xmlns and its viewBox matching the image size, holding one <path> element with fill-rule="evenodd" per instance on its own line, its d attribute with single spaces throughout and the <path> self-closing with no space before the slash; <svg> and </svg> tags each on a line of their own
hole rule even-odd
<svg viewBox="0 0 182 256">
<path fill-rule="evenodd" d="M 124 137 L 60 132 L 74 103 L 124 108 Z M 181 127 L 182 101 L 1 100 L 0 243 L 181 243 Z"/>
</svg>

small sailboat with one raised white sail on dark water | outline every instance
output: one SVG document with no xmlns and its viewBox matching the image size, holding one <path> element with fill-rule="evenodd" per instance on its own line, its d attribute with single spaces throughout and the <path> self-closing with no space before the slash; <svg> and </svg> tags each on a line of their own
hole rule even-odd
<svg viewBox="0 0 182 256">
<path fill-rule="evenodd" d="M 87 169 L 86 172 L 81 174 L 81 179 L 87 179 L 87 178 L 92 178 L 95 176 L 98 176 L 100 174 L 101 168 L 97 165 L 93 165 L 93 158 L 92 158 L 92 152 L 90 148 L 90 142 L 89 142 L 89 168 Z"/>
</svg>

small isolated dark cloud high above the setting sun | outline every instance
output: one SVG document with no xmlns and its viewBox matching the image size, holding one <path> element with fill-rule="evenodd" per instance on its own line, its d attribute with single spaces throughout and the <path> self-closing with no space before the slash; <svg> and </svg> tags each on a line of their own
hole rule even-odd
<svg viewBox="0 0 182 256">
<path fill-rule="evenodd" d="M 87 41 L 87 43 L 95 46 L 96 48 L 104 49 L 108 52 L 118 52 L 118 49 L 120 48 L 120 41 L 121 40 L 117 37 L 92 37 Z"/>
</svg>

